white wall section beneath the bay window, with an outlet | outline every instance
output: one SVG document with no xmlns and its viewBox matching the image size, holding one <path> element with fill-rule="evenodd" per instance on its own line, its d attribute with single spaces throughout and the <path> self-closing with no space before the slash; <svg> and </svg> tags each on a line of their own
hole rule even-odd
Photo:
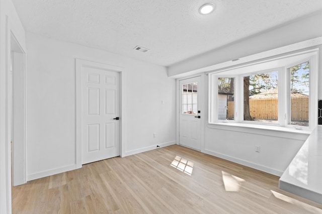
<svg viewBox="0 0 322 214">
<path fill-rule="evenodd" d="M 281 176 L 307 134 L 206 125 L 204 152 Z M 255 151 L 260 146 L 260 152 Z"/>
</svg>

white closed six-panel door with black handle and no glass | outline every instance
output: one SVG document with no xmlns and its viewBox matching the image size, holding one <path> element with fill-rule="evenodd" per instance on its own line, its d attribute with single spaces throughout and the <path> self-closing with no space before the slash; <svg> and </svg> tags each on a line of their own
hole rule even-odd
<svg viewBox="0 0 322 214">
<path fill-rule="evenodd" d="M 82 164 L 120 155 L 119 73 L 82 69 Z"/>
</svg>

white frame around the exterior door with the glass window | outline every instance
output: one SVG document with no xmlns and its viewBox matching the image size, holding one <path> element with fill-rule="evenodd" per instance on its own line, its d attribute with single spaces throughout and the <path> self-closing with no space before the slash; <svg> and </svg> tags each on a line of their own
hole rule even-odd
<svg viewBox="0 0 322 214">
<path fill-rule="evenodd" d="M 198 96 L 199 96 L 199 91 L 200 91 L 200 151 L 204 152 L 205 150 L 205 144 L 204 144 L 204 139 L 205 139 L 205 122 L 207 121 L 206 118 L 208 118 L 208 111 L 206 110 L 206 97 L 208 96 L 208 93 L 206 94 L 206 92 L 208 92 L 207 90 L 205 90 L 205 73 L 199 73 L 199 74 L 195 74 L 195 75 L 189 75 L 189 76 L 185 76 L 185 77 L 181 77 L 176 79 L 176 142 L 178 145 L 180 145 L 179 143 L 179 131 L 180 131 L 180 80 L 184 80 L 184 79 L 190 79 L 193 77 L 198 77 L 200 76 L 200 83 L 201 83 L 201 87 L 199 87 L 198 85 Z M 208 85 L 208 84 L 207 84 Z M 206 112 L 207 111 L 207 112 Z"/>
</svg>

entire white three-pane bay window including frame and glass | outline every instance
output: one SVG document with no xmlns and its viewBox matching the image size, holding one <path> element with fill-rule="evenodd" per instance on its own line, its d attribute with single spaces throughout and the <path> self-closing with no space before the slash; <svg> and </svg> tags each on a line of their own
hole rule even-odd
<svg viewBox="0 0 322 214">
<path fill-rule="evenodd" d="M 209 123 L 311 130 L 317 124 L 318 49 L 209 74 Z"/>
</svg>

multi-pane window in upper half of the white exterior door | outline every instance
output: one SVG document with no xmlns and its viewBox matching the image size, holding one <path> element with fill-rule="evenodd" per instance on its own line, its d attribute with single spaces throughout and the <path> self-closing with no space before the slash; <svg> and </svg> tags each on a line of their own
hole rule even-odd
<svg viewBox="0 0 322 214">
<path fill-rule="evenodd" d="M 198 114 L 198 83 L 191 82 L 182 85 L 182 114 Z"/>
</svg>

